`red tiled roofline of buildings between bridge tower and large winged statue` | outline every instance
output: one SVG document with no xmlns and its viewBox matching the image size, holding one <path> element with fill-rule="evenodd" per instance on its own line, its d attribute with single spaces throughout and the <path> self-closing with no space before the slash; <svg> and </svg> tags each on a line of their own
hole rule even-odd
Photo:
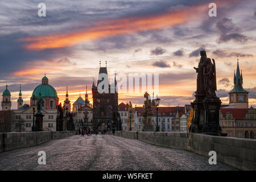
<svg viewBox="0 0 256 182">
<path fill-rule="evenodd" d="M 174 116 L 176 114 L 177 107 L 158 107 L 158 113 L 160 113 L 160 116 Z M 152 114 L 156 116 L 156 107 L 151 107 Z M 138 113 L 141 113 L 143 115 L 144 113 L 144 107 L 135 107 L 135 111 L 138 111 Z M 163 115 L 164 113 L 164 115 Z M 172 113 L 170 115 L 170 113 Z M 182 114 L 185 113 L 185 107 L 179 107 L 179 117 L 181 117 Z"/>
</svg>

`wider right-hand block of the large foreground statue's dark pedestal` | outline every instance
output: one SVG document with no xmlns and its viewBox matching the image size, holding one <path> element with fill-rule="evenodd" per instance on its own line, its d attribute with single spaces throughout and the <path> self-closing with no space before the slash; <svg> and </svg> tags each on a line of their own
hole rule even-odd
<svg viewBox="0 0 256 182">
<path fill-rule="evenodd" d="M 219 125 L 219 110 L 221 106 L 220 98 L 207 98 L 203 101 L 205 121 L 203 133 L 209 135 L 220 135 L 221 127 Z"/>
</svg>

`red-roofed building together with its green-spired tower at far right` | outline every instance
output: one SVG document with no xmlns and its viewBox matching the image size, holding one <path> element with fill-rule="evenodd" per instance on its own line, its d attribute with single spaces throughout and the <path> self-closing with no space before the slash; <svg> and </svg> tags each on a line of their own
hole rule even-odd
<svg viewBox="0 0 256 182">
<path fill-rule="evenodd" d="M 243 76 L 237 61 L 234 88 L 229 92 L 229 105 L 221 106 L 220 126 L 228 137 L 255 138 L 256 110 L 248 108 L 249 92 L 243 89 Z"/>
</svg>

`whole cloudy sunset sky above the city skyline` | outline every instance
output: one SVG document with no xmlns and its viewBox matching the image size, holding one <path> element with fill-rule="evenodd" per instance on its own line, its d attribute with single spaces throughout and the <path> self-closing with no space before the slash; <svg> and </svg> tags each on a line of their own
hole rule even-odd
<svg viewBox="0 0 256 182">
<path fill-rule="evenodd" d="M 46 17 L 38 16 L 41 2 Z M 217 5 L 216 17 L 208 15 L 211 2 Z M 9 85 L 12 109 L 19 84 L 29 104 L 45 73 L 60 102 L 67 84 L 71 102 L 80 93 L 84 98 L 86 84 L 92 102 L 100 60 L 117 74 L 159 73 L 161 106 L 190 104 L 201 49 L 216 61 L 217 96 L 223 104 L 228 104 L 239 56 L 249 106 L 256 106 L 255 0 L 3 0 L 0 40 L 0 91 Z M 119 103 L 143 105 L 143 92 L 119 94 Z"/>
</svg>

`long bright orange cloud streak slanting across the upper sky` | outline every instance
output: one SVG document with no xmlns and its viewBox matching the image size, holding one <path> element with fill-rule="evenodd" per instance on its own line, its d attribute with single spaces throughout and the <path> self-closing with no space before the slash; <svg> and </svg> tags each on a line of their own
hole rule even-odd
<svg viewBox="0 0 256 182">
<path fill-rule="evenodd" d="M 217 7 L 228 5 L 233 1 L 216 1 Z M 48 49 L 73 46 L 77 43 L 100 39 L 106 36 L 116 36 L 131 34 L 135 32 L 159 30 L 162 28 L 173 27 L 181 23 L 189 22 L 203 15 L 208 16 L 209 3 L 185 7 L 183 10 L 163 13 L 151 16 L 139 16 L 131 18 L 104 20 L 95 22 L 95 27 L 87 30 L 73 31 L 63 34 L 40 36 L 35 38 L 24 38 L 29 42 L 27 49 Z"/>
</svg>

